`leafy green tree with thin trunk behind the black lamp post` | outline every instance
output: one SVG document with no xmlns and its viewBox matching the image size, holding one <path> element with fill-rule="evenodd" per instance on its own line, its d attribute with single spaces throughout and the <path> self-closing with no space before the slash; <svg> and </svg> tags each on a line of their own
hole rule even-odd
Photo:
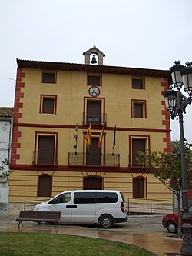
<svg viewBox="0 0 192 256">
<path fill-rule="evenodd" d="M 178 202 L 178 237 L 181 238 L 181 209 L 180 201 L 182 198 L 182 172 L 181 172 L 181 151 L 180 141 L 170 143 L 172 154 L 147 151 L 138 152 L 137 163 L 142 168 L 151 171 L 164 185 L 172 191 Z M 191 144 L 185 141 L 185 160 L 187 168 L 187 183 L 188 187 L 192 186 L 192 158 Z"/>
</svg>

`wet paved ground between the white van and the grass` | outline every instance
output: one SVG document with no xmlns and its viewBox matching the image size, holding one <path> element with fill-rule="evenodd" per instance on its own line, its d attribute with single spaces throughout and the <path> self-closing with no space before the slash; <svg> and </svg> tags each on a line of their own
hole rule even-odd
<svg viewBox="0 0 192 256">
<path fill-rule="evenodd" d="M 30 232 L 70 234 L 90 238 L 101 238 L 111 241 L 119 241 L 126 244 L 134 244 L 158 256 L 179 255 L 182 244 L 181 239 L 167 232 L 162 227 L 162 216 L 130 216 L 125 224 L 116 224 L 111 229 L 102 229 L 98 225 L 74 226 L 59 224 L 38 225 L 34 222 L 24 221 L 24 227 L 18 228 L 18 216 L 0 217 L 1 232 Z"/>
</svg>

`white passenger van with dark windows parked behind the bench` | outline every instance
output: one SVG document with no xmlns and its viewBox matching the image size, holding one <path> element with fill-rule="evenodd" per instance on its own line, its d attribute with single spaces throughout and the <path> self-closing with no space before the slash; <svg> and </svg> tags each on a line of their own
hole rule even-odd
<svg viewBox="0 0 192 256">
<path fill-rule="evenodd" d="M 64 191 L 36 205 L 34 211 L 61 211 L 61 222 L 100 224 L 101 228 L 127 222 L 127 210 L 121 191 Z"/>
</svg>

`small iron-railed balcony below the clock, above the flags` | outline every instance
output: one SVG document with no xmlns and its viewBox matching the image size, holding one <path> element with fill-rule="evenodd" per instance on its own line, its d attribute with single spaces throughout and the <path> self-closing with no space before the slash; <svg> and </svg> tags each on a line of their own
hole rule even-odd
<svg viewBox="0 0 192 256">
<path fill-rule="evenodd" d="M 106 125 L 107 114 L 106 113 L 94 113 L 94 112 L 84 112 L 83 113 L 83 124 L 84 125 Z"/>
</svg>

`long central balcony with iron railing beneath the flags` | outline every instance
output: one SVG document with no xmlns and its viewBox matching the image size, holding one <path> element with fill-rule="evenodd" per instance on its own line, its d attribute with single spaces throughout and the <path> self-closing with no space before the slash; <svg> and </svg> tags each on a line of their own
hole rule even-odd
<svg viewBox="0 0 192 256">
<path fill-rule="evenodd" d="M 68 165 L 100 165 L 100 166 L 120 166 L 120 155 L 119 154 L 104 154 L 101 158 L 90 161 L 88 153 L 74 152 L 68 153 Z"/>
</svg>

